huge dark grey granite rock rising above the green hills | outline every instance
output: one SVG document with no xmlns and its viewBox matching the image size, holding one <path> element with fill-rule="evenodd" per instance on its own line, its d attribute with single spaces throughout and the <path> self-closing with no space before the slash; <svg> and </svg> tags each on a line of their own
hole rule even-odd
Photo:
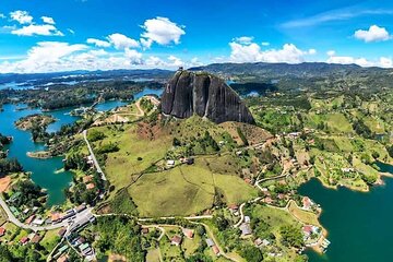
<svg viewBox="0 0 393 262">
<path fill-rule="evenodd" d="M 193 114 L 213 122 L 254 123 L 249 109 L 223 80 L 209 73 L 178 71 L 162 97 L 165 115 L 189 118 Z"/>
</svg>

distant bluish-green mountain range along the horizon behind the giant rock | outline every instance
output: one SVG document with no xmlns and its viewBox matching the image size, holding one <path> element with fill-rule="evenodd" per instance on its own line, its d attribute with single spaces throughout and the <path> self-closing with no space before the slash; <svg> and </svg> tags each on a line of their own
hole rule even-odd
<svg viewBox="0 0 393 262">
<path fill-rule="evenodd" d="M 303 62 L 298 64 L 289 63 L 212 63 L 203 67 L 190 68 L 190 71 L 206 71 L 222 76 L 233 75 L 258 75 L 261 78 L 318 78 L 330 75 L 368 75 L 376 76 L 383 73 L 393 73 L 392 69 L 382 68 L 361 68 L 357 64 L 334 64 L 323 62 Z M 110 71 L 72 71 L 56 73 L 33 73 L 17 74 L 8 73 L 0 74 L 0 84 L 2 83 L 24 83 L 24 82 L 53 82 L 59 81 L 82 81 L 82 80 L 99 80 L 99 79 L 155 79 L 168 80 L 172 76 L 171 70 L 110 70 Z"/>
</svg>

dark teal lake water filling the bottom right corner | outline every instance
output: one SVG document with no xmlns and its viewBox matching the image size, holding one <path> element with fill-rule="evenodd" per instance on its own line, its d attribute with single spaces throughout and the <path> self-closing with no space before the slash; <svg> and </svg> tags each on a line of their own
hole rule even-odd
<svg viewBox="0 0 393 262">
<path fill-rule="evenodd" d="M 379 166 L 381 171 L 393 172 L 393 166 Z M 326 189 L 317 179 L 299 188 L 300 194 L 321 204 L 320 222 L 332 242 L 323 255 L 308 250 L 310 262 L 393 261 L 393 179 L 384 178 L 384 182 L 368 193 Z"/>
</svg>

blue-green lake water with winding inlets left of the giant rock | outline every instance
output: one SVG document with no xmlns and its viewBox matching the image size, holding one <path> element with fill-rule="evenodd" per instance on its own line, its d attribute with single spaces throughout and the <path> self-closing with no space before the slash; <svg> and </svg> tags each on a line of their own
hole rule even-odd
<svg viewBox="0 0 393 262">
<path fill-rule="evenodd" d="M 162 90 L 144 91 L 134 95 L 140 98 L 145 94 L 160 95 Z M 118 106 L 126 105 L 126 102 L 110 100 L 98 104 L 96 109 L 107 111 Z M 45 145 L 43 143 L 34 143 L 29 131 L 21 131 L 15 128 L 14 122 L 21 117 L 26 117 L 32 114 L 40 114 L 40 109 L 25 109 L 16 110 L 16 108 L 24 108 L 25 105 L 3 105 L 3 111 L 0 112 L 0 133 L 3 135 L 11 135 L 14 138 L 13 142 L 8 146 L 10 150 L 9 157 L 15 157 L 22 164 L 25 171 L 32 172 L 32 179 L 41 188 L 48 191 L 48 205 L 61 204 L 66 196 L 63 190 L 69 187 L 72 181 L 72 174 L 69 171 L 56 172 L 63 167 L 63 157 L 52 157 L 49 159 L 37 159 L 26 155 L 27 152 L 43 151 Z M 53 116 L 57 121 L 48 126 L 48 132 L 56 132 L 60 130 L 61 126 L 73 123 L 79 117 L 70 116 L 70 111 L 74 108 L 66 108 L 44 112 Z"/>
</svg>

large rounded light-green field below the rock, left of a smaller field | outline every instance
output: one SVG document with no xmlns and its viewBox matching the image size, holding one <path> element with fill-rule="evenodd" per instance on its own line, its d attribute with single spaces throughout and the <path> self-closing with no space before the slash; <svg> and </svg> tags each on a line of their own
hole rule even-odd
<svg viewBox="0 0 393 262">
<path fill-rule="evenodd" d="M 198 168 L 147 174 L 129 188 L 142 216 L 193 214 L 213 204 L 212 175 Z"/>
</svg>

